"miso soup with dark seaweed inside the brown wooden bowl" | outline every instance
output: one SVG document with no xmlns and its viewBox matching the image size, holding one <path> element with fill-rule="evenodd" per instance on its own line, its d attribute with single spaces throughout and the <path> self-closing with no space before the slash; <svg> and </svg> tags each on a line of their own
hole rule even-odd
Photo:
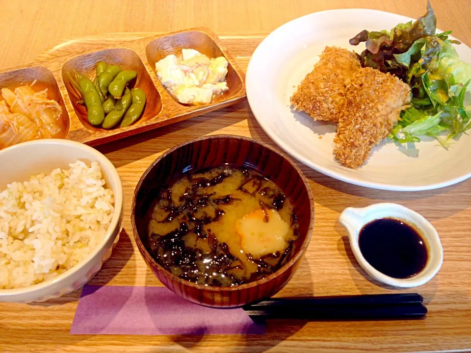
<svg viewBox="0 0 471 353">
<path fill-rule="evenodd" d="M 275 183 L 223 166 L 184 174 L 161 191 L 147 246 L 175 276 L 229 287 L 277 271 L 297 238 L 293 205 Z"/>
</svg>

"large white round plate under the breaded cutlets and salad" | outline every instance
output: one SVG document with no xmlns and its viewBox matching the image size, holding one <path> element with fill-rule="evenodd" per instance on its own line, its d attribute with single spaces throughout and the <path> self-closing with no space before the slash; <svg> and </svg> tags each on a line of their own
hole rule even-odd
<svg viewBox="0 0 471 353">
<path fill-rule="evenodd" d="M 425 8 L 424 8 L 425 12 Z M 412 19 L 388 12 L 345 9 L 316 12 L 274 30 L 255 50 L 246 76 L 247 99 L 263 130 L 291 156 L 334 178 L 366 187 L 417 191 L 448 186 L 471 176 L 471 136 L 462 135 L 447 151 L 432 138 L 399 148 L 383 141 L 366 164 L 357 170 L 341 166 L 334 158 L 336 125 L 314 122 L 303 112 L 293 112 L 289 98 L 312 71 L 325 46 L 361 52 L 364 43 L 348 40 L 363 29 L 391 29 Z M 449 30 L 453 28 L 445 28 Z M 471 62 L 471 49 L 456 46 L 460 59 Z"/>
</svg>

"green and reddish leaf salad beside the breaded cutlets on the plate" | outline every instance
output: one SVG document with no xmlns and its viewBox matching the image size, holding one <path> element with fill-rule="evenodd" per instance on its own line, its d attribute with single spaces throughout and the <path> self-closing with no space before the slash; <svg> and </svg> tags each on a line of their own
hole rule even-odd
<svg viewBox="0 0 471 353">
<path fill-rule="evenodd" d="M 436 28 L 428 1 L 427 12 L 414 23 L 390 31 L 363 30 L 350 39 L 351 45 L 366 42 L 359 55 L 363 67 L 391 73 L 411 86 L 411 106 L 389 134 L 399 144 L 419 142 L 425 135 L 448 148 L 450 139 L 471 128 L 471 106 L 465 99 L 471 65 L 459 59 L 453 44 L 460 42 L 448 38 L 451 31 L 437 34 Z"/>
</svg>

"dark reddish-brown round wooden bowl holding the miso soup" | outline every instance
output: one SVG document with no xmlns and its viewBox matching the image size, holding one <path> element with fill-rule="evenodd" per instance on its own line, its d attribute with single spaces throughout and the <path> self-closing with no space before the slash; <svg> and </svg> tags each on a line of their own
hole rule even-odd
<svg viewBox="0 0 471 353">
<path fill-rule="evenodd" d="M 206 287 L 174 276 L 150 255 L 145 246 L 148 210 L 160 190 L 185 171 L 204 170 L 224 163 L 256 168 L 277 184 L 294 204 L 299 222 L 299 238 L 294 243 L 292 258 L 277 272 L 235 287 Z M 314 199 L 306 178 L 284 154 L 245 137 L 215 135 L 181 144 L 162 154 L 150 165 L 134 191 L 131 223 L 139 252 L 167 288 L 194 303 L 215 307 L 240 306 L 270 297 L 294 274 L 313 232 Z"/>
</svg>

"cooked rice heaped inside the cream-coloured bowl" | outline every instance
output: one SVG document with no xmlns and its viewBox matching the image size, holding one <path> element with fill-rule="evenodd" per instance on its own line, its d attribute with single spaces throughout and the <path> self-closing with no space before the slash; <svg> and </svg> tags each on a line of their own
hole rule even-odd
<svg viewBox="0 0 471 353">
<path fill-rule="evenodd" d="M 69 270 L 102 242 L 113 215 L 113 191 L 97 162 L 8 184 L 0 190 L 0 289 Z"/>
</svg>

